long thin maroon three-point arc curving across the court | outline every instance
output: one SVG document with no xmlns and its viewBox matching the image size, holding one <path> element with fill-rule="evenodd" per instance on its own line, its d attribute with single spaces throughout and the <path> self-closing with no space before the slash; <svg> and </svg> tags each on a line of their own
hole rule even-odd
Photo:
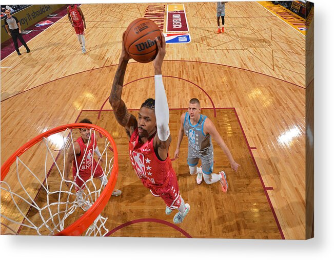
<svg viewBox="0 0 334 260">
<path fill-rule="evenodd" d="M 51 25 L 51 26 L 52 26 L 52 25 Z M 51 26 L 50 26 L 50 27 L 51 27 Z M 42 32 L 42 33 L 43 33 L 43 32 Z M 41 34 L 41 33 L 40 33 L 40 34 Z M 39 34 L 38 34 L 38 35 L 39 35 Z M 12 53 L 11 53 L 11 54 L 12 54 Z M 9 55 L 11 55 L 11 54 L 9 54 Z M 244 69 L 244 68 L 239 68 L 239 67 L 234 67 L 234 66 L 225 65 L 225 64 L 211 63 L 211 62 L 200 62 L 200 61 L 182 61 L 181 59 L 166 59 L 166 60 L 164 60 L 164 62 L 194 62 L 194 63 L 204 63 L 204 64 L 219 65 L 219 66 L 224 66 L 224 67 L 234 68 L 234 69 L 240 69 L 240 70 L 245 70 L 245 71 L 253 72 L 253 73 L 256 73 L 256 74 L 264 75 L 264 76 L 267 76 L 267 77 L 271 77 L 271 78 L 274 78 L 274 79 L 278 79 L 279 81 L 282 81 L 282 82 L 285 82 L 285 83 L 294 85 L 294 86 L 296 86 L 296 87 L 299 87 L 299 88 L 302 88 L 302 89 L 306 89 L 306 88 L 304 88 L 304 87 L 302 87 L 302 86 L 299 86 L 299 85 L 297 85 L 297 84 L 295 84 L 295 83 L 291 83 L 291 82 L 285 81 L 284 79 L 281 79 L 281 78 L 278 78 L 278 77 L 274 77 L 274 76 L 271 76 L 271 75 L 267 75 L 267 74 L 264 74 L 264 73 L 261 73 L 261 72 L 258 72 L 258 71 L 252 71 L 252 70 L 248 70 L 248 69 Z M 137 62 L 131 62 L 131 63 L 129 63 L 129 64 L 133 64 L 133 63 L 137 63 Z M 89 69 L 89 70 L 84 70 L 84 71 L 76 72 L 76 73 L 73 73 L 73 74 L 70 74 L 70 75 L 66 75 L 66 76 L 63 76 L 63 77 L 60 77 L 60 78 L 52 79 L 52 81 L 42 83 L 41 85 L 32 87 L 32 88 L 27 89 L 27 90 L 24 90 L 24 91 L 22 91 L 22 92 L 16 93 L 15 95 L 9 96 L 9 97 L 3 99 L 1 102 L 6 101 L 7 99 L 10 99 L 10 98 L 12 98 L 12 97 L 14 97 L 14 96 L 17 96 L 17 95 L 22 94 L 22 93 L 24 93 L 24 92 L 27 92 L 27 91 L 29 91 L 29 90 L 32 90 L 32 89 L 34 89 L 34 88 L 38 88 L 38 87 L 41 87 L 41 86 L 46 85 L 46 84 L 48 84 L 48 83 L 57 81 L 58 79 L 63 79 L 63 78 L 69 77 L 69 76 L 74 76 L 74 75 L 76 75 L 76 74 L 80 74 L 80 73 L 84 73 L 84 72 L 89 72 L 89 71 L 93 71 L 93 70 L 97 70 L 97 69 L 103 69 L 103 68 L 113 67 L 113 66 L 118 66 L 118 64 L 112 64 L 112 65 L 107 65 L 107 66 L 103 66 L 103 67 L 99 67 L 99 68 L 93 68 L 93 69 Z"/>
</svg>

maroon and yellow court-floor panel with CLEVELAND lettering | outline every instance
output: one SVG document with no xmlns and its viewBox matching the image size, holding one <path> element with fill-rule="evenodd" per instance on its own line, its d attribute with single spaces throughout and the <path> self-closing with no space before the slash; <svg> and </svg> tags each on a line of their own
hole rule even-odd
<svg viewBox="0 0 334 260">
<path fill-rule="evenodd" d="M 188 23 L 184 5 L 167 5 L 167 32 L 187 32 Z"/>
</svg>

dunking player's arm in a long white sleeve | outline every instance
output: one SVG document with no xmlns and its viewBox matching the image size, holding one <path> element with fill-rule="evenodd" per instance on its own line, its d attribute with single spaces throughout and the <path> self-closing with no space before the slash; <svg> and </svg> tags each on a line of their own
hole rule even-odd
<svg viewBox="0 0 334 260">
<path fill-rule="evenodd" d="M 158 54 L 156 55 L 154 66 L 154 85 L 155 85 L 155 118 L 156 118 L 156 131 L 154 143 L 158 146 L 158 153 L 162 159 L 167 158 L 168 148 L 171 142 L 169 133 L 169 108 L 167 102 L 167 96 L 165 92 L 164 83 L 162 81 L 162 63 L 166 54 L 166 42 L 165 37 L 162 34 L 161 44 L 158 38 L 155 38 L 155 43 L 158 46 Z M 157 137 L 158 136 L 158 137 Z"/>
</svg>

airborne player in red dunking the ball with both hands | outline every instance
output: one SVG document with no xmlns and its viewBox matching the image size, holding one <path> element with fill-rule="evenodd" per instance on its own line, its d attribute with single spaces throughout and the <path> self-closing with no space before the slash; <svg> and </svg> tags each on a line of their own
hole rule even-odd
<svg viewBox="0 0 334 260">
<path fill-rule="evenodd" d="M 164 200 L 166 214 L 178 209 L 179 212 L 175 214 L 173 222 L 179 224 L 188 214 L 190 206 L 185 204 L 180 195 L 178 180 L 168 154 L 171 143 L 168 127 L 169 109 L 161 69 L 166 54 L 166 42 L 163 34 L 161 37 L 161 45 L 158 38 L 155 38 L 159 50 L 153 62 L 155 101 L 152 98 L 146 99 L 136 119 L 128 112 L 121 99 L 125 70 L 131 58 L 125 50 L 123 33 L 120 64 L 114 77 L 109 103 L 117 122 L 125 128 L 130 139 L 130 159 L 137 176 L 143 185 L 150 189 L 153 196 Z"/>
</svg>

